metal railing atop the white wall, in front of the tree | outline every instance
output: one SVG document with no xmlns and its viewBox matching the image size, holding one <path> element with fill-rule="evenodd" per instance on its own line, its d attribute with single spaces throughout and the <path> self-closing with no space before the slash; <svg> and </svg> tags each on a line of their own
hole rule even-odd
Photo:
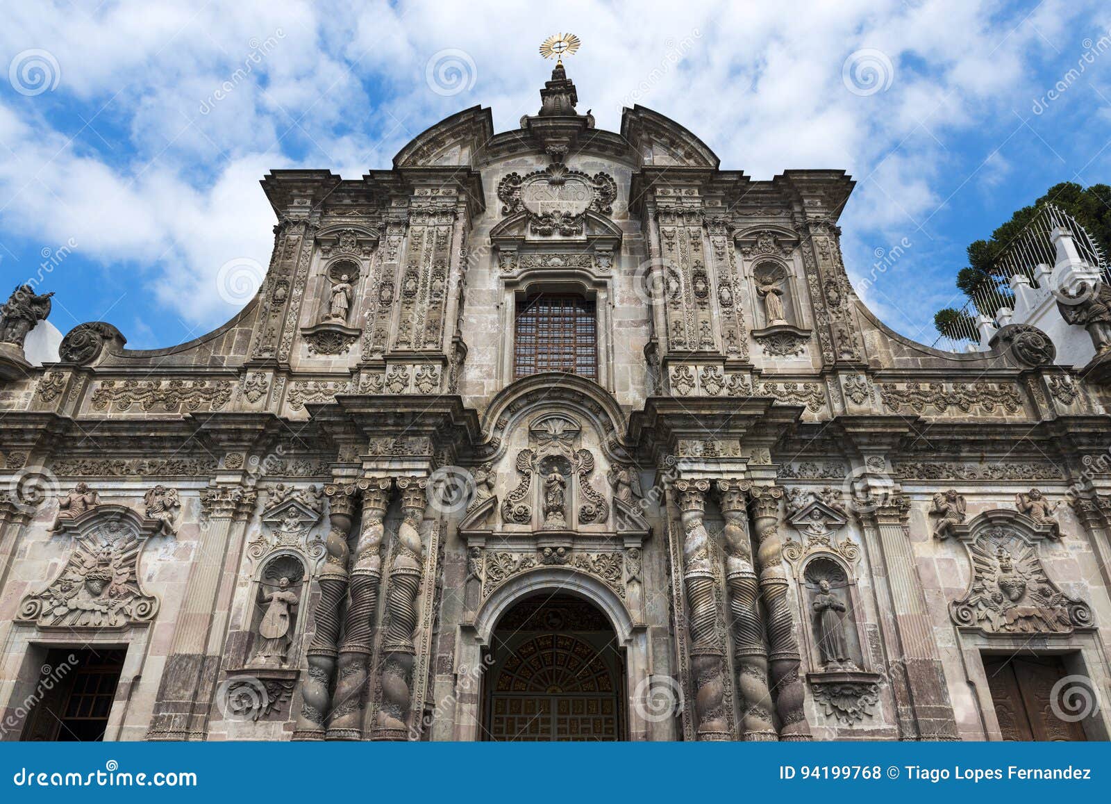
<svg viewBox="0 0 1111 804">
<path fill-rule="evenodd" d="M 1088 265 L 1098 267 L 1103 281 L 1111 281 L 1111 267 L 1100 245 L 1092 239 L 1075 218 L 1053 204 L 1039 207 L 1038 212 L 1027 224 L 1022 232 L 1003 250 L 1003 254 L 992 264 L 994 282 L 982 285 L 972 292 L 972 298 L 960 309 L 960 318 L 952 325 L 951 335 L 939 335 L 931 346 L 944 351 L 967 351 L 970 346 L 980 343 L 980 331 L 975 327 L 978 316 L 987 316 L 994 326 L 999 326 L 998 315 L 1001 308 L 1014 309 L 1014 294 L 1011 290 L 1011 277 L 1021 275 L 1037 287 L 1034 269 L 1039 265 L 1052 267 L 1057 262 L 1057 248 L 1053 246 L 1053 230 L 1064 229 L 1072 235 L 1080 258 Z"/>
</svg>

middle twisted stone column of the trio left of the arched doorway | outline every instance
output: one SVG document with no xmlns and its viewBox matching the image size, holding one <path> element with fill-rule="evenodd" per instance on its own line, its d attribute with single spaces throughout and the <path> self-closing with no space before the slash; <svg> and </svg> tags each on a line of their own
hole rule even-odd
<svg viewBox="0 0 1111 804">
<path fill-rule="evenodd" d="M 382 538 L 386 509 L 390 505 L 389 478 L 360 480 L 362 532 L 351 556 L 351 594 L 343 621 L 336 679 L 336 697 L 328 722 L 329 740 L 361 740 L 362 714 L 367 706 L 367 665 L 373 651 L 371 632 L 378 611 L 378 588 L 382 579 Z"/>
</svg>

